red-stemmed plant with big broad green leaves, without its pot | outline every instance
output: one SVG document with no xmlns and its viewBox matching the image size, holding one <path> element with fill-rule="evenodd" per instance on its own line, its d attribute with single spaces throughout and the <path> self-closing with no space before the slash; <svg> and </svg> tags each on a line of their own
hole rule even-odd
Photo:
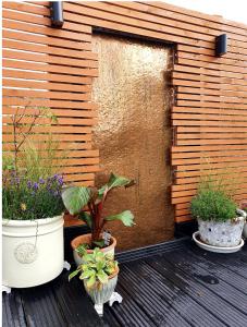
<svg viewBox="0 0 247 327">
<path fill-rule="evenodd" d="M 78 215 L 78 218 L 91 229 L 91 249 L 104 245 L 101 233 L 108 221 L 121 220 L 124 226 L 128 227 L 134 225 L 134 216 L 129 210 L 108 217 L 102 215 L 103 205 L 109 193 L 115 187 L 128 187 L 133 184 L 134 181 L 111 173 L 108 183 L 99 190 L 86 186 L 71 186 L 62 192 L 63 203 L 69 213 Z M 89 213 L 86 206 L 88 206 Z"/>
</svg>

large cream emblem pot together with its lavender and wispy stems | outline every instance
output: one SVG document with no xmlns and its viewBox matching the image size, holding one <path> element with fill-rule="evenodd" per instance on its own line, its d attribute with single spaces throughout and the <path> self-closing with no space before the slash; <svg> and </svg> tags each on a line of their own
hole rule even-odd
<svg viewBox="0 0 247 327">
<path fill-rule="evenodd" d="M 3 152 L 2 284 L 8 288 L 38 286 L 63 269 L 63 178 L 55 173 L 61 158 L 49 135 L 42 144 L 29 140 L 41 116 L 37 110 L 26 125 L 29 114 L 17 112 L 13 150 Z"/>
</svg>

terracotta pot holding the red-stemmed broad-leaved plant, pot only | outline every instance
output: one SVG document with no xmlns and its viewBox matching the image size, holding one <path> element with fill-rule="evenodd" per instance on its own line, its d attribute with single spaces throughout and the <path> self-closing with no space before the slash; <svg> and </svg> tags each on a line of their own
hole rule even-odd
<svg viewBox="0 0 247 327">
<path fill-rule="evenodd" d="M 74 240 L 71 241 L 71 246 L 73 249 L 73 256 L 76 265 L 82 265 L 83 261 L 82 257 L 78 255 L 78 253 L 75 251 L 75 249 L 79 244 L 90 244 L 91 241 L 91 234 L 84 234 L 75 238 Z M 101 252 L 106 254 L 112 254 L 114 256 L 115 253 L 115 245 L 116 245 L 116 240 L 115 238 L 111 237 L 110 240 L 110 245 L 103 249 L 100 249 Z M 92 253 L 92 250 L 87 250 L 87 253 Z"/>
</svg>

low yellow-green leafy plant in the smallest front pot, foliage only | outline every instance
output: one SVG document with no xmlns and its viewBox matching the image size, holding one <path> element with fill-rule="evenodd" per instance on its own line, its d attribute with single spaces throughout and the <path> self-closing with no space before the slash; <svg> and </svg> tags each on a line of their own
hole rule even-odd
<svg viewBox="0 0 247 327">
<path fill-rule="evenodd" d="M 83 256 L 83 264 L 70 274 L 69 280 L 81 274 L 79 279 L 85 280 L 88 289 L 100 289 L 103 283 L 108 282 L 109 277 L 118 271 L 118 262 L 113 259 L 113 256 L 96 247 L 92 253 Z"/>
</svg>

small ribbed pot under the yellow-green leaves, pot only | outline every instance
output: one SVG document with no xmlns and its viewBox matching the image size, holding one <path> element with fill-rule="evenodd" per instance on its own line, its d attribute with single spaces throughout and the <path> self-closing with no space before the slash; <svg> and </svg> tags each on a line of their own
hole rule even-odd
<svg viewBox="0 0 247 327">
<path fill-rule="evenodd" d="M 84 287 L 88 295 L 91 298 L 92 302 L 95 304 L 103 304 L 108 302 L 114 292 L 116 282 L 118 282 L 118 275 L 119 275 L 119 267 L 114 274 L 109 276 L 109 280 L 107 283 L 103 283 L 101 288 L 99 289 L 97 286 L 95 288 L 88 289 L 85 280 L 84 280 Z"/>
</svg>

